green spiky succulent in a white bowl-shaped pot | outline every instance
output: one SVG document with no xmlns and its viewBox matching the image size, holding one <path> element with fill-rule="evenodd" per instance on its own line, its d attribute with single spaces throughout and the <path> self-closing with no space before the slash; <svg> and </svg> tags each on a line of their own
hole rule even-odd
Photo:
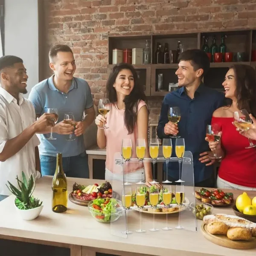
<svg viewBox="0 0 256 256">
<path fill-rule="evenodd" d="M 15 207 L 19 212 L 23 220 L 33 220 L 40 214 L 43 209 L 42 201 L 34 198 L 32 195 L 35 189 L 35 180 L 33 175 L 30 176 L 29 182 L 27 182 L 26 175 L 22 171 L 22 181 L 16 177 L 19 188 L 16 188 L 12 183 L 9 186 L 6 184 L 8 189 L 16 196 Z"/>
</svg>

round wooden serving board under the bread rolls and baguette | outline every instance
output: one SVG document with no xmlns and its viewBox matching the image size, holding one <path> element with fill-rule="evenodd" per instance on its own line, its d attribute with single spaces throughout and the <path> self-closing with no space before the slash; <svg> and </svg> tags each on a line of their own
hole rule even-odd
<svg viewBox="0 0 256 256">
<path fill-rule="evenodd" d="M 207 224 L 202 223 L 201 232 L 204 237 L 211 241 L 214 244 L 218 244 L 223 247 L 231 248 L 231 249 L 253 249 L 256 248 L 256 237 L 252 237 L 249 241 L 234 241 L 227 238 L 224 235 L 212 235 L 207 231 Z"/>
</svg>

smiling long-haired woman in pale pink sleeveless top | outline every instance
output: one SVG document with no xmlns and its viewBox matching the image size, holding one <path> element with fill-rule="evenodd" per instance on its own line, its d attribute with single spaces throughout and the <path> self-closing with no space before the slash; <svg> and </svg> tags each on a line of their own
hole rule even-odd
<svg viewBox="0 0 256 256">
<path fill-rule="evenodd" d="M 107 95 L 110 101 L 110 111 L 105 118 L 99 114 L 95 123 L 98 127 L 106 123 L 109 128 L 98 128 L 97 144 L 99 148 L 106 147 L 107 149 L 105 179 L 122 180 L 122 175 L 114 171 L 116 168 L 114 157 L 116 153 L 122 152 L 122 139 L 131 139 L 132 158 L 137 158 L 135 151 L 137 139 L 144 139 L 145 157 L 149 157 L 146 96 L 132 65 L 122 63 L 113 67 L 107 81 Z M 144 177 L 144 181 L 150 186 L 151 163 L 145 163 L 140 169 L 138 162 L 130 162 L 128 169 L 125 168 L 125 173 L 128 182 L 136 183 Z"/>
</svg>

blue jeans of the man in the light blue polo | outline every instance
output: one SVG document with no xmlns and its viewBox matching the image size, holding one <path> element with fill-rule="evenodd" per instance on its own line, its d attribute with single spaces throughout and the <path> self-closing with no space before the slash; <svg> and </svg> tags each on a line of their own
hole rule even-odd
<svg viewBox="0 0 256 256">
<path fill-rule="evenodd" d="M 44 175 L 54 175 L 57 157 L 40 155 L 41 173 Z M 87 154 L 81 153 L 73 157 L 62 157 L 62 166 L 67 177 L 89 178 L 89 167 Z"/>
</svg>

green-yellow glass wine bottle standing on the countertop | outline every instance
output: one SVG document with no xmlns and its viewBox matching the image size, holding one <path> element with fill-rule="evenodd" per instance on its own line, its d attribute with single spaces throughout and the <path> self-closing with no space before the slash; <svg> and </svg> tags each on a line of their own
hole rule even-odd
<svg viewBox="0 0 256 256">
<path fill-rule="evenodd" d="M 52 179 L 52 211 L 67 211 L 67 179 L 62 168 L 62 154 L 57 154 L 55 174 Z"/>
</svg>

